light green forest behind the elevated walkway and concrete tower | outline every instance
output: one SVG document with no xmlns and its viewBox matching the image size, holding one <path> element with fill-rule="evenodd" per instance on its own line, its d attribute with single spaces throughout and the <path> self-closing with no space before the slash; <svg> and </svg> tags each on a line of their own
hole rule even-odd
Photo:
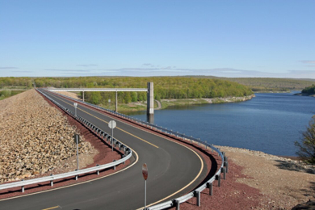
<svg viewBox="0 0 315 210">
<path fill-rule="evenodd" d="M 146 88 L 154 83 L 154 97 L 161 99 L 215 98 L 248 96 L 253 94 L 248 87 L 221 79 L 196 77 L 42 77 L 0 78 L 0 87 L 26 86 L 55 88 Z M 114 101 L 114 92 L 85 92 L 85 100 L 94 104 Z M 145 101 L 146 92 L 118 92 L 119 103 Z"/>
</svg>

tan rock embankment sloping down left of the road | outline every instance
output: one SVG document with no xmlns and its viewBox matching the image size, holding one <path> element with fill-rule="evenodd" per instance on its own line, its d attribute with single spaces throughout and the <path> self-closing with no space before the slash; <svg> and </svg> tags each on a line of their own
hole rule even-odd
<svg viewBox="0 0 315 210">
<path fill-rule="evenodd" d="M 20 180 L 65 168 L 76 155 L 71 126 L 60 111 L 50 106 L 35 90 L 0 101 L 0 182 Z M 95 153 L 81 139 L 80 154 Z"/>
</svg>

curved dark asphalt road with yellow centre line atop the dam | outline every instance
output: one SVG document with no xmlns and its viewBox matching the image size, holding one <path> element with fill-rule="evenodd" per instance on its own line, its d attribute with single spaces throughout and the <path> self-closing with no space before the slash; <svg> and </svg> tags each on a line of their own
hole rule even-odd
<svg viewBox="0 0 315 210">
<path fill-rule="evenodd" d="M 45 93 L 74 111 L 73 102 L 51 92 Z M 80 104 L 77 114 L 111 134 L 107 124 L 112 119 L 110 116 Z M 114 129 L 114 137 L 131 147 L 139 156 L 134 166 L 87 183 L 0 201 L 0 209 L 137 209 L 144 204 L 144 180 L 141 173 L 143 163 L 148 165 L 149 170 L 147 204 L 184 195 L 205 178 L 207 167 L 197 153 L 115 120 L 117 127 Z M 135 160 L 135 153 L 133 154 Z"/>
</svg>

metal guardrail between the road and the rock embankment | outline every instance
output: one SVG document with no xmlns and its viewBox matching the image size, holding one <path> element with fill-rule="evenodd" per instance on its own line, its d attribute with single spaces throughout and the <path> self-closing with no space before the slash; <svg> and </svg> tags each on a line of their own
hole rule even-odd
<svg viewBox="0 0 315 210">
<path fill-rule="evenodd" d="M 80 116 L 75 116 L 73 112 L 71 112 L 68 108 L 62 106 L 60 103 L 54 101 L 51 97 L 47 96 L 45 93 L 43 93 L 41 90 L 38 90 L 41 94 L 43 94 L 45 97 L 47 97 L 51 102 L 56 104 L 59 108 L 67 112 L 69 115 L 74 117 L 76 120 L 80 121 L 83 125 L 85 125 L 88 129 L 91 131 L 95 132 L 96 135 L 98 135 L 100 138 L 105 140 L 107 143 L 112 144 L 116 149 L 119 151 L 123 150 L 123 158 L 120 160 L 115 160 L 111 163 L 107 163 L 104 165 L 97 165 L 94 167 L 90 168 L 85 168 L 85 169 L 80 169 L 72 172 L 66 172 L 66 173 L 61 173 L 61 174 L 56 174 L 56 175 L 50 175 L 50 176 L 45 176 L 45 177 L 40 177 L 40 178 L 34 178 L 34 179 L 28 179 L 28 180 L 21 180 L 17 182 L 12 182 L 12 183 L 7 183 L 7 184 L 0 184 L 0 190 L 5 190 L 9 188 L 14 188 L 14 187 L 21 187 L 22 192 L 25 191 L 25 186 L 26 185 L 31 185 L 31 184 L 38 184 L 38 183 L 43 183 L 43 182 L 50 182 L 50 186 L 54 185 L 54 180 L 57 179 L 62 179 L 62 178 L 69 178 L 69 177 L 75 177 L 75 179 L 78 179 L 78 176 L 81 174 L 86 174 L 86 173 L 91 173 L 91 172 L 96 172 L 97 175 L 99 175 L 99 172 L 104 169 L 108 168 L 113 168 L 114 170 L 116 169 L 116 166 L 119 164 L 124 164 L 125 161 L 129 160 L 129 158 L 132 156 L 132 151 L 130 148 L 125 146 L 123 143 L 119 142 L 115 138 L 112 138 L 109 134 L 107 134 L 105 131 L 102 131 L 89 121 L 83 119 Z"/>
</svg>

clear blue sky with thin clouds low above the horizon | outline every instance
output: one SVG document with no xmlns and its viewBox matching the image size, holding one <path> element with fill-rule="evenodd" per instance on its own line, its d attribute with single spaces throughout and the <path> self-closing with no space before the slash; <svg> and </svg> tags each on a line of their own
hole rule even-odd
<svg viewBox="0 0 315 210">
<path fill-rule="evenodd" d="M 0 77 L 315 79 L 314 11 L 314 0 L 0 0 Z"/>
</svg>

